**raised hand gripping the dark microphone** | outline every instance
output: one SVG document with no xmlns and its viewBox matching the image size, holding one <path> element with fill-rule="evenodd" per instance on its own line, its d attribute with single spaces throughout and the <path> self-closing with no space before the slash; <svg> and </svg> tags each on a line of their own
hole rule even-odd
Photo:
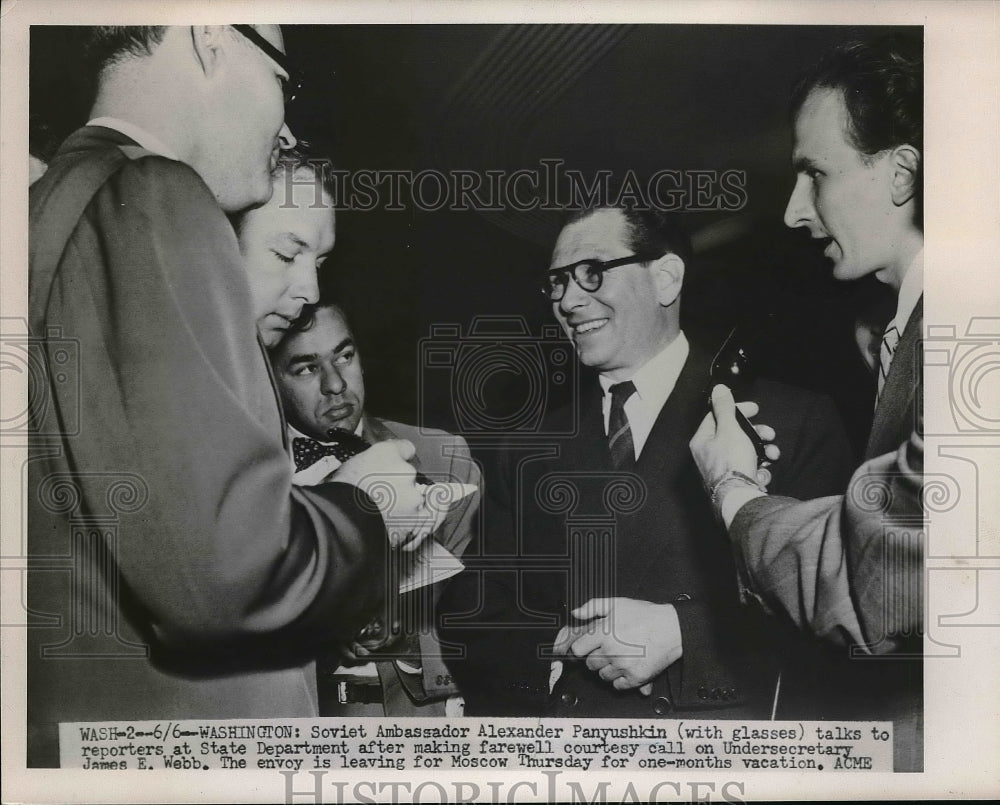
<svg viewBox="0 0 1000 805">
<path fill-rule="evenodd" d="M 760 410 L 753 402 L 738 406 L 747 417 L 755 416 Z M 757 453 L 736 421 L 736 408 L 732 392 L 721 384 L 716 386 L 712 389 L 712 411 L 705 415 L 691 439 L 691 454 L 707 487 L 714 485 L 729 470 L 757 478 L 765 485 L 770 480 L 770 473 L 757 468 Z M 768 460 L 777 461 L 781 451 L 773 444 L 774 429 L 767 425 L 755 425 L 754 429 L 765 442 L 771 442 L 765 448 Z"/>
</svg>

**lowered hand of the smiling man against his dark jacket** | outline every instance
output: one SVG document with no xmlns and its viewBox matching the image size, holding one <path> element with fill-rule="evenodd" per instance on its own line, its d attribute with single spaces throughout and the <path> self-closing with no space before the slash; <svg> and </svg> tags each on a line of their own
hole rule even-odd
<svg viewBox="0 0 1000 805">
<path fill-rule="evenodd" d="M 559 630 L 553 650 L 585 660 L 591 671 L 618 690 L 639 688 L 681 658 L 681 626 L 672 604 L 633 598 L 592 598 L 570 613 L 587 621 Z"/>
</svg>

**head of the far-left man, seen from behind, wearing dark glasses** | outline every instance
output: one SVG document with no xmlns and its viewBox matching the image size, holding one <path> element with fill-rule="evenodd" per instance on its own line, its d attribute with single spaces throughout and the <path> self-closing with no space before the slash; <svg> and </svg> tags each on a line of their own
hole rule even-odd
<svg viewBox="0 0 1000 805">
<path fill-rule="evenodd" d="M 294 145 L 284 126 L 281 30 L 250 33 L 263 42 L 231 25 L 101 28 L 88 48 L 99 68 L 92 117 L 119 118 L 157 137 L 228 212 L 270 198 L 279 150 Z"/>
</svg>

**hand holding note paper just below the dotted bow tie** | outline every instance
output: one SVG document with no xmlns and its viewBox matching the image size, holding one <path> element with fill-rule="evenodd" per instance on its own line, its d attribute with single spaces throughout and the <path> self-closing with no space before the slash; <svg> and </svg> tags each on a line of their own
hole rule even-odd
<svg viewBox="0 0 1000 805">
<path fill-rule="evenodd" d="M 424 505 L 427 487 L 416 483 L 416 470 L 409 463 L 415 453 L 412 442 L 389 439 L 349 458 L 330 476 L 331 481 L 356 486 L 375 501 L 389 544 L 404 551 L 418 548 L 447 514 Z"/>
</svg>

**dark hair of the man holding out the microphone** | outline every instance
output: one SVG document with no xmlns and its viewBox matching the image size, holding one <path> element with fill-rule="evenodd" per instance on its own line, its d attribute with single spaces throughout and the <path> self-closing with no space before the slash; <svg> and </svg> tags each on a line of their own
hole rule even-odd
<svg viewBox="0 0 1000 805">
<path fill-rule="evenodd" d="M 873 156 L 906 144 L 920 151 L 922 160 L 924 58 L 918 36 L 894 34 L 835 45 L 796 83 L 793 122 L 809 93 L 823 87 L 843 94 L 846 134 L 860 153 Z"/>
</svg>

